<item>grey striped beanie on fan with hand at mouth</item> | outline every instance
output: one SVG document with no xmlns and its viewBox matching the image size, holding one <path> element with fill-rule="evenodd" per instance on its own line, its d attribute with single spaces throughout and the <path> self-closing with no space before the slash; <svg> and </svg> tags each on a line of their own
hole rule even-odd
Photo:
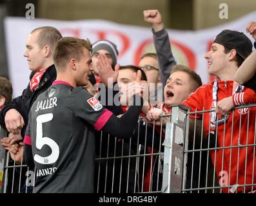
<svg viewBox="0 0 256 206">
<path fill-rule="evenodd" d="M 94 53 L 97 52 L 98 50 L 106 50 L 110 53 L 113 59 L 112 68 L 114 68 L 115 64 L 117 64 L 117 55 L 118 55 L 117 46 L 111 41 L 102 39 L 92 44 L 92 55 L 94 55 Z"/>
</svg>

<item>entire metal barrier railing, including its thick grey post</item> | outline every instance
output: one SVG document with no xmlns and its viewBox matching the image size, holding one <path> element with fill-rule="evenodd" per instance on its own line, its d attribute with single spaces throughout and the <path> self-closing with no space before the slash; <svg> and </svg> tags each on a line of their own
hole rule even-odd
<svg viewBox="0 0 256 206">
<path fill-rule="evenodd" d="M 177 106 L 166 125 L 141 117 L 130 139 L 98 133 L 95 192 L 255 191 L 255 105 L 235 108 L 214 134 L 211 112 Z M 35 171 L 0 149 L 1 192 L 31 192 Z"/>
</svg>

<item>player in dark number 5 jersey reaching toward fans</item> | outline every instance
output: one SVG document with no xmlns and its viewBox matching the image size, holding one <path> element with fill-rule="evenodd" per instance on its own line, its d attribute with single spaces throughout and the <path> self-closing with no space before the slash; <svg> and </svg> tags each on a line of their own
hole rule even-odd
<svg viewBox="0 0 256 206">
<path fill-rule="evenodd" d="M 25 136 L 26 164 L 35 164 L 34 192 L 94 192 L 94 131 L 130 138 L 143 98 L 121 118 L 104 108 L 82 86 L 92 71 L 91 44 L 64 37 L 54 50 L 56 81 L 32 105 Z M 99 55 L 101 79 L 117 79 L 105 55 Z M 115 82 L 115 80 L 113 80 Z"/>
</svg>

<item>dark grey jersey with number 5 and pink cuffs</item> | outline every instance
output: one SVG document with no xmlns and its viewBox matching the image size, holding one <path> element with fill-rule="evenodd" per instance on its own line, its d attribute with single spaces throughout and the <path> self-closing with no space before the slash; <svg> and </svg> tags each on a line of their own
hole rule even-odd
<svg viewBox="0 0 256 206">
<path fill-rule="evenodd" d="M 82 87 L 55 81 L 30 109 L 34 192 L 94 192 L 94 131 L 112 113 Z"/>
</svg>

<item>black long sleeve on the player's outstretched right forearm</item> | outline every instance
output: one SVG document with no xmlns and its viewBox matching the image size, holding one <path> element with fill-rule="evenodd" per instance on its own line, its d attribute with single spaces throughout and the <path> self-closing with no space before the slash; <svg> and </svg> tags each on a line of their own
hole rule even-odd
<svg viewBox="0 0 256 206">
<path fill-rule="evenodd" d="M 137 126 L 137 120 L 141 113 L 141 109 L 143 108 L 143 98 L 139 97 L 139 95 L 135 95 L 133 97 L 133 102 L 138 103 L 136 102 L 138 99 L 139 104 L 133 104 L 134 106 L 130 106 L 128 111 L 126 111 L 121 118 L 112 115 L 102 130 L 113 136 L 130 138 Z"/>
</svg>

